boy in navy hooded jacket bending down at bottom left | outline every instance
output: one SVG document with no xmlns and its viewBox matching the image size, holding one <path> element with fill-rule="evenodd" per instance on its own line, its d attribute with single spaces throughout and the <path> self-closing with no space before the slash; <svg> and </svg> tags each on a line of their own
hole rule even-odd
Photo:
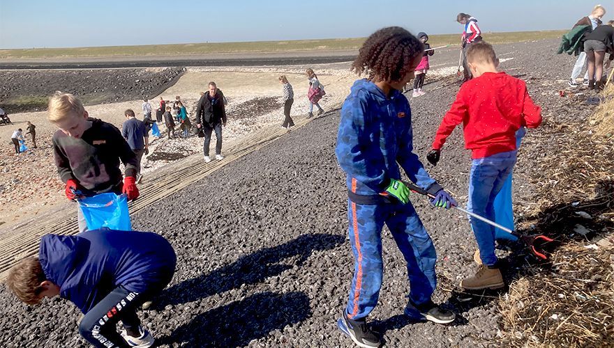
<svg viewBox="0 0 614 348">
<path fill-rule="evenodd" d="M 79 333 L 94 347 L 151 347 L 136 309 L 162 292 L 177 256 L 151 232 L 91 230 L 76 236 L 45 235 L 38 258 L 10 269 L 6 285 L 24 303 L 61 296 L 82 313 Z M 117 332 L 117 322 L 124 330 Z M 68 343 L 68 342 L 67 342 Z"/>
</svg>

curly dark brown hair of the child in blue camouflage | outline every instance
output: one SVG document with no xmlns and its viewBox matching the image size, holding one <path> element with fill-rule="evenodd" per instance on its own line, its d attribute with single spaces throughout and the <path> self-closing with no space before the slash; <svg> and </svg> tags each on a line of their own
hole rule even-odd
<svg viewBox="0 0 614 348">
<path fill-rule="evenodd" d="M 400 26 L 389 26 L 371 34 L 359 50 L 351 71 L 367 72 L 370 79 L 399 81 L 411 72 L 411 63 L 424 53 L 424 45 Z"/>
</svg>

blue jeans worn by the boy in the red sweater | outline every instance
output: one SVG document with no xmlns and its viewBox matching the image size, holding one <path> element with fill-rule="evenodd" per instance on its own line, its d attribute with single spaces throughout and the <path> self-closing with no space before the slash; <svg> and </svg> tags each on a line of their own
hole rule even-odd
<svg viewBox="0 0 614 348">
<path fill-rule="evenodd" d="M 516 153 L 516 150 L 502 152 L 472 161 L 467 210 L 495 221 L 495 197 L 516 164 Z M 494 265 L 497 262 L 495 228 L 473 217 L 469 221 L 482 262 L 488 266 Z"/>
</svg>

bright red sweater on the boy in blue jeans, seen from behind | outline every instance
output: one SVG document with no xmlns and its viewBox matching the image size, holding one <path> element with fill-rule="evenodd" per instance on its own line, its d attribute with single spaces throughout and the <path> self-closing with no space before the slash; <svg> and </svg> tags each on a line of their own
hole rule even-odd
<svg viewBox="0 0 614 348">
<path fill-rule="evenodd" d="M 461 122 L 465 148 L 472 150 L 472 158 L 484 158 L 516 150 L 516 131 L 539 126 L 541 108 L 531 100 L 525 81 L 504 72 L 486 72 L 458 90 L 437 129 L 433 149 L 440 150 Z"/>
</svg>

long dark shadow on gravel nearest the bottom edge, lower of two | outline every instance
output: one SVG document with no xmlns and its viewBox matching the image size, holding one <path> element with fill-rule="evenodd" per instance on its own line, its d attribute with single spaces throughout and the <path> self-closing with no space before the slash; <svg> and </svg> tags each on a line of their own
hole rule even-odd
<svg viewBox="0 0 614 348">
<path fill-rule="evenodd" d="M 263 292 L 202 313 L 157 342 L 186 347 L 243 347 L 310 316 L 309 298 L 303 292 Z"/>
</svg>

